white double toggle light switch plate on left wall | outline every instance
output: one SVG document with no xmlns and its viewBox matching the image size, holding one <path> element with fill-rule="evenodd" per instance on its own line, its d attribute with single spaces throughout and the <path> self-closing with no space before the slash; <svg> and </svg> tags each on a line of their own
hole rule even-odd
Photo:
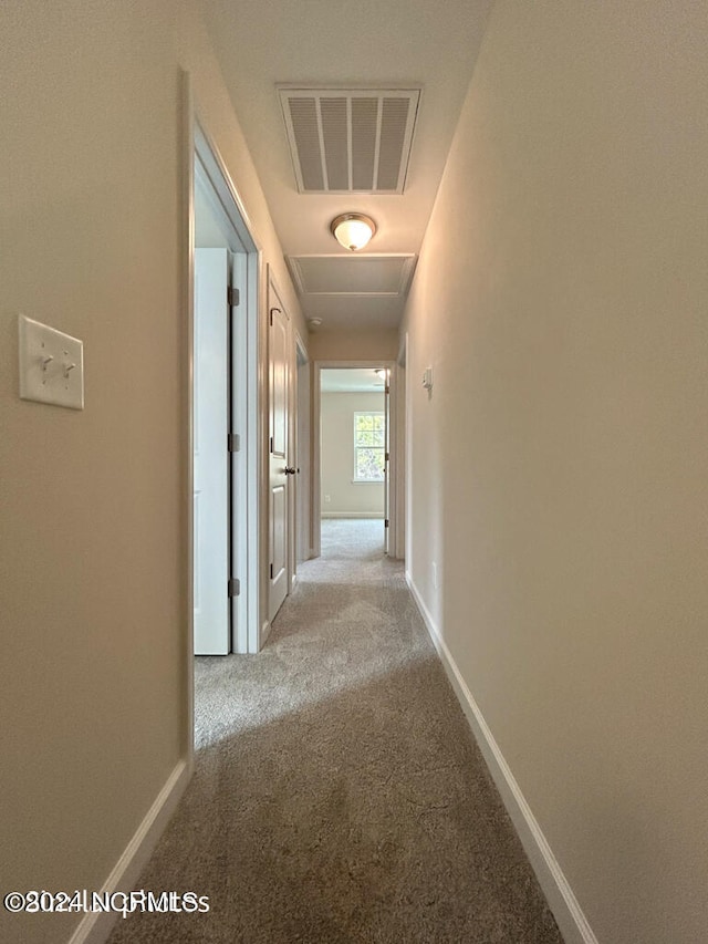
<svg viewBox="0 0 708 944">
<path fill-rule="evenodd" d="M 20 396 L 84 408 L 83 341 L 20 315 Z"/>
</svg>

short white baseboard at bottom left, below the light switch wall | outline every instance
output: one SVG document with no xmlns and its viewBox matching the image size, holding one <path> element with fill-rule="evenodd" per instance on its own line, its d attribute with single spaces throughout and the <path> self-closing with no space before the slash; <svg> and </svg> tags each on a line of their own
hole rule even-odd
<svg viewBox="0 0 708 944">
<path fill-rule="evenodd" d="M 113 894 L 114 892 L 129 892 L 135 888 L 135 883 L 153 854 L 157 840 L 185 792 L 190 775 L 188 763 L 184 759 L 180 760 L 106 879 L 101 889 L 102 895 Z M 108 940 L 117 917 L 116 912 L 92 912 L 84 915 L 69 944 L 104 944 Z"/>
</svg>

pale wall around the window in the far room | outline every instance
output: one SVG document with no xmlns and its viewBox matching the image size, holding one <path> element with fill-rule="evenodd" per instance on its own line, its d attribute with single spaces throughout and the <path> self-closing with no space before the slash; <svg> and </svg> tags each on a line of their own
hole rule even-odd
<svg viewBox="0 0 708 944">
<path fill-rule="evenodd" d="M 323 393 L 320 408 L 322 515 L 384 517 L 384 486 L 354 483 L 354 414 L 383 411 L 381 393 Z M 326 497 L 330 496 L 330 501 Z"/>
</svg>

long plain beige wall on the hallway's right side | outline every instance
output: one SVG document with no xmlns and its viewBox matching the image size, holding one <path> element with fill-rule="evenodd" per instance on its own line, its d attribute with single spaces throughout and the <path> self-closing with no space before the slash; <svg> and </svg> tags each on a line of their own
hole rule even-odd
<svg viewBox="0 0 708 944">
<path fill-rule="evenodd" d="M 708 934 L 707 46 L 500 0 L 407 314 L 408 568 L 603 944 Z"/>
</svg>

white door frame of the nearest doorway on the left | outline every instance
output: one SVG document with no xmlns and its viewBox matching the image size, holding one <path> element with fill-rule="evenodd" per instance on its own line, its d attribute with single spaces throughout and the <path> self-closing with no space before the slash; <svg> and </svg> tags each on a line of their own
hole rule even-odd
<svg viewBox="0 0 708 944">
<path fill-rule="evenodd" d="M 259 312 L 262 308 L 262 251 L 243 203 L 226 168 L 221 154 L 209 135 L 195 103 L 191 76 L 181 73 L 183 86 L 183 357 L 181 357 L 181 395 L 179 400 L 180 426 L 183 429 L 181 460 L 185 469 L 183 483 L 183 533 L 186 536 L 181 552 L 181 572 L 185 574 L 183 597 L 183 624 L 186 631 L 185 687 L 187 701 L 187 718 L 185 725 L 185 744 L 183 745 L 187 765 L 194 767 L 194 243 L 195 243 L 195 157 L 198 156 L 207 170 L 209 180 L 219 200 L 232 222 L 241 242 L 248 248 L 247 256 L 247 300 L 246 317 L 241 319 L 246 343 L 242 343 L 241 364 L 243 387 L 237 397 L 238 409 L 242 411 L 240 421 L 244 426 L 241 430 L 241 452 L 243 455 L 244 487 L 232 509 L 233 516 L 241 515 L 240 520 L 246 527 L 237 527 L 236 533 L 241 535 L 243 547 L 239 548 L 239 559 L 243 571 L 239 579 L 241 593 L 236 598 L 241 608 L 239 623 L 244 627 L 246 647 L 248 652 L 258 652 L 259 625 L 261 613 L 260 594 L 260 512 L 261 512 L 261 463 L 262 463 L 262 416 L 259 408 L 261 402 L 262 378 L 259 361 L 262 340 L 259 333 Z M 233 365 L 239 373 L 238 364 Z M 236 417 L 235 417 L 236 418 Z M 239 633 L 242 635 L 242 633 Z M 237 643 L 242 645 L 243 640 Z"/>
</svg>

